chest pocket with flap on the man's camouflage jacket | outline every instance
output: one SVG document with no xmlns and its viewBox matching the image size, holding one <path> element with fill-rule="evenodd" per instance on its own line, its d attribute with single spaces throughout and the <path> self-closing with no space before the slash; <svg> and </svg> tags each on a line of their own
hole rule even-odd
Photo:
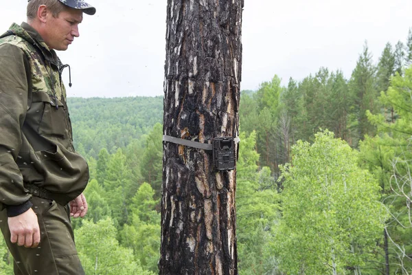
<svg viewBox="0 0 412 275">
<path fill-rule="evenodd" d="M 39 118 L 38 133 L 62 139 L 67 137 L 67 112 L 60 100 L 43 91 L 34 92 L 31 109 Z"/>
</svg>

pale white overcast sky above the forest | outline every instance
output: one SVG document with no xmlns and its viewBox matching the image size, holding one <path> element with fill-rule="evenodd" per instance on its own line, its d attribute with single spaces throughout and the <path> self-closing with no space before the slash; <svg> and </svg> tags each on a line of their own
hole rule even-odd
<svg viewBox="0 0 412 275">
<path fill-rule="evenodd" d="M 196 0 L 195 0 L 196 1 Z M 166 0 L 87 0 L 80 37 L 59 52 L 71 65 L 69 96 L 163 95 Z M 0 32 L 25 21 L 27 0 L 0 0 Z M 410 0 L 244 0 L 242 89 L 277 74 L 286 85 L 319 67 L 347 78 L 367 41 L 377 62 L 387 42 L 405 42 Z M 65 83 L 68 71 L 64 72 Z"/>
</svg>

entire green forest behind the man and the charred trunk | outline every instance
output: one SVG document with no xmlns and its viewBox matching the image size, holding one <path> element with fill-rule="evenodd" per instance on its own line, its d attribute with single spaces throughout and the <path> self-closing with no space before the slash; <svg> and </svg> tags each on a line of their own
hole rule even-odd
<svg viewBox="0 0 412 275">
<path fill-rule="evenodd" d="M 240 96 L 239 274 L 412 274 L 412 30 L 350 78 L 321 67 Z M 158 273 L 163 98 L 69 98 L 89 162 L 86 274 Z M 12 256 L 0 239 L 0 275 Z"/>
</svg>

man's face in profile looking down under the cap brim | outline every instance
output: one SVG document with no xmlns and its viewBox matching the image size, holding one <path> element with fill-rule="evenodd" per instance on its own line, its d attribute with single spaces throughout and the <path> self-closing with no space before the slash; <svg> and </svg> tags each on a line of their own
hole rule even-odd
<svg viewBox="0 0 412 275">
<path fill-rule="evenodd" d="M 46 37 L 43 37 L 50 49 L 65 51 L 79 36 L 78 25 L 83 20 L 82 10 L 67 8 L 53 17 L 51 12 L 47 12 Z"/>
</svg>

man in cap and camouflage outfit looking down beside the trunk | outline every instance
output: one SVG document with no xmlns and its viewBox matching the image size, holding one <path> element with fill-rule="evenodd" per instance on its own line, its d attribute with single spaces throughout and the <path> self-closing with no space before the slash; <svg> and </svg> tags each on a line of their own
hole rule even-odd
<svg viewBox="0 0 412 275">
<path fill-rule="evenodd" d="M 87 162 L 73 148 L 62 65 L 82 0 L 29 0 L 27 23 L 0 36 L 0 228 L 14 274 L 84 274 L 70 216 L 84 217 Z"/>
</svg>

